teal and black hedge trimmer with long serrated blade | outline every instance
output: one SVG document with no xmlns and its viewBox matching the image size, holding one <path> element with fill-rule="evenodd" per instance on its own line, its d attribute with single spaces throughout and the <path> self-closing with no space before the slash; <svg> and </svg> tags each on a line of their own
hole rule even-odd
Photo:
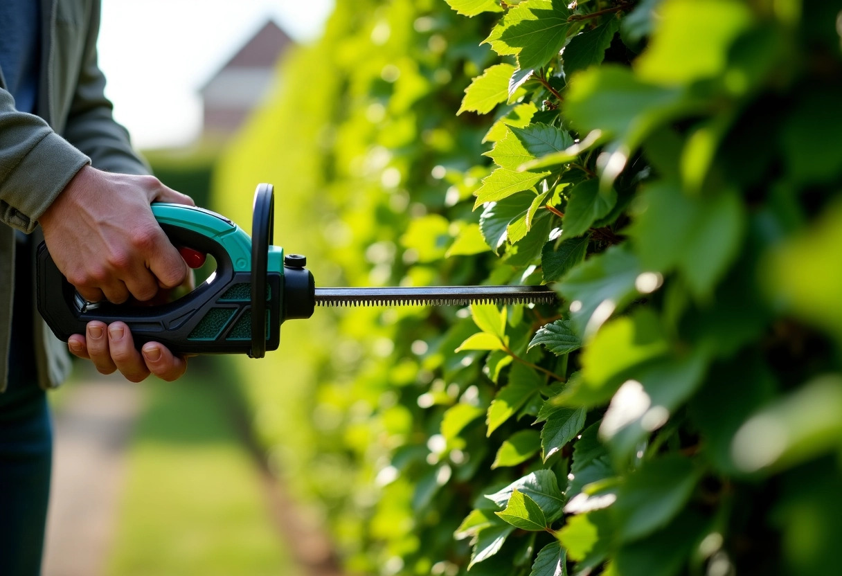
<svg viewBox="0 0 842 576">
<path fill-rule="evenodd" d="M 260 184 L 254 195 L 253 237 L 225 216 L 203 208 L 155 203 L 152 213 L 177 246 L 209 253 L 216 271 L 176 301 L 157 306 L 127 306 L 83 300 L 56 268 L 46 245 L 38 248 L 38 310 L 56 336 L 67 342 L 84 333 L 92 320 L 123 321 L 139 347 L 160 342 L 182 354 L 246 353 L 261 358 L 280 344 L 280 324 L 309 318 L 316 306 L 411 305 L 466 306 L 549 303 L 556 294 L 546 286 L 424 286 L 316 288 L 299 254 L 272 245 L 274 194 Z M 254 317 L 264 318 L 253 323 Z"/>
</svg>

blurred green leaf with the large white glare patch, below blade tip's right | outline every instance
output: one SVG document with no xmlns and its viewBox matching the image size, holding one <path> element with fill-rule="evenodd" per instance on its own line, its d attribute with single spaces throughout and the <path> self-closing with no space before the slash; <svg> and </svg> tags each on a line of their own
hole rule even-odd
<svg viewBox="0 0 842 576">
<path fill-rule="evenodd" d="M 627 461 L 647 435 L 667 423 L 701 384 L 706 354 L 695 349 L 684 357 L 668 357 L 632 371 L 611 398 L 600 436 L 619 461 Z"/>
</svg>

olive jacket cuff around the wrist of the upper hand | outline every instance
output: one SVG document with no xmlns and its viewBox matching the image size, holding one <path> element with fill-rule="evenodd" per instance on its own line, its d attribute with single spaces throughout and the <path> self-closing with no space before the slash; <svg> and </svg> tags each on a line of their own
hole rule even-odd
<svg viewBox="0 0 842 576">
<path fill-rule="evenodd" d="M 8 226 L 29 233 L 40 216 L 61 194 L 76 173 L 91 163 L 55 132 L 48 132 L 9 174 L 6 189 L 17 190 L 15 204 L 0 202 L 0 219 Z"/>
</svg>

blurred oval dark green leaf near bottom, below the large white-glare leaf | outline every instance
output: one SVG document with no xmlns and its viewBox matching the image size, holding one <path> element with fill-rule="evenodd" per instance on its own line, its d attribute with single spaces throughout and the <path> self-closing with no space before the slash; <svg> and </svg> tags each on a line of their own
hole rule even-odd
<svg viewBox="0 0 842 576">
<path fill-rule="evenodd" d="M 684 456 L 648 461 L 621 485 L 612 508 L 622 541 L 638 540 L 667 525 L 684 508 L 700 474 Z"/>
</svg>

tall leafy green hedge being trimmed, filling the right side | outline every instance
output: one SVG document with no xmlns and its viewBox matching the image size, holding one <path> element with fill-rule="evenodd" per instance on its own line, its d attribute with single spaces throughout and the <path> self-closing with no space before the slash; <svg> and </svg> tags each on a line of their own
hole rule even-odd
<svg viewBox="0 0 842 576">
<path fill-rule="evenodd" d="M 560 296 L 240 361 L 349 570 L 842 573 L 838 8 L 447 4 L 338 0 L 217 174 L 319 285 Z"/>
</svg>

